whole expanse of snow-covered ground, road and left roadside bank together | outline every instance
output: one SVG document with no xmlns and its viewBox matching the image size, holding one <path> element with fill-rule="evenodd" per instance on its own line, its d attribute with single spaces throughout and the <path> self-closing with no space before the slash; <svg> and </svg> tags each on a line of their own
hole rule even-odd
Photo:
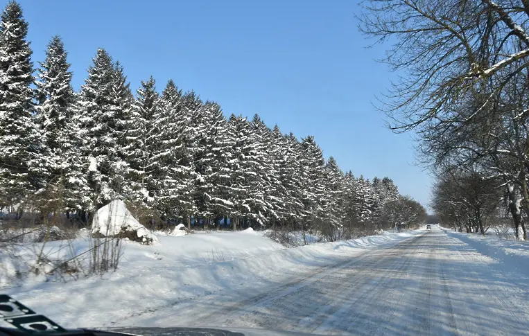
<svg viewBox="0 0 529 336">
<path fill-rule="evenodd" d="M 67 327 L 529 335 L 523 243 L 437 226 L 292 249 L 252 230 L 158 238 L 103 279 L 5 292 Z"/>
</svg>

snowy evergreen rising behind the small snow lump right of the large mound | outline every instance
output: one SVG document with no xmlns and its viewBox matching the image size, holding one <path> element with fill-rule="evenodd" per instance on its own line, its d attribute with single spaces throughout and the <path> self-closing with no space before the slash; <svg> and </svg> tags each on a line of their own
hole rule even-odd
<svg viewBox="0 0 529 336">
<path fill-rule="evenodd" d="M 169 80 L 153 120 L 153 166 L 157 195 L 155 204 L 163 218 L 187 220 L 196 213 L 193 151 L 188 145 L 189 119 L 182 113 L 182 91 Z"/>
</svg>

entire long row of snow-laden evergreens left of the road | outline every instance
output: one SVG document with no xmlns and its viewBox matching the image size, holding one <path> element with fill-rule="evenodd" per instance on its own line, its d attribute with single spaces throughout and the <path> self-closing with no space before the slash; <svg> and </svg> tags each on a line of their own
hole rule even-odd
<svg viewBox="0 0 529 336">
<path fill-rule="evenodd" d="M 18 3 L 0 26 L 0 208 L 75 214 L 83 220 L 121 199 L 141 222 L 232 227 L 345 229 L 413 227 L 424 208 L 391 179 L 371 182 L 324 160 L 313 136 L 300 140 L 254 116 L 151 77 L 132 94 L 123 67 L 99 49 L 79 92 L 60 37 L 33 77 L 28 24 Z M 33 88 L 33 85 L 35 88 Z"/>
</svg>

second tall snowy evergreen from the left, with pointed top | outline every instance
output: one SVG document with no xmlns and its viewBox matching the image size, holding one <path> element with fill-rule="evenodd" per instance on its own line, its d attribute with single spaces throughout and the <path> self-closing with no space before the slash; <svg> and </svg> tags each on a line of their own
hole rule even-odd
<svg viewBox="0 0 529 336">
<path fill-rule="evenodd" d="M 40 127 L 43 168 L 49 174 L 45 192 L 40 193 L 40 207 L 50 210 L 76 211 L 82 207 L 86 180 L 80 170 L 83 160 L 78 148 L 82 143 L 74 119 L 76 94 L 71 87 L 67 52 L 60 37 L 51 39 L 46 60 L 40 63 L 35 83 L 36 120 Z M 46 205 L 44 204 L 46 203 Z"/>
</svg>

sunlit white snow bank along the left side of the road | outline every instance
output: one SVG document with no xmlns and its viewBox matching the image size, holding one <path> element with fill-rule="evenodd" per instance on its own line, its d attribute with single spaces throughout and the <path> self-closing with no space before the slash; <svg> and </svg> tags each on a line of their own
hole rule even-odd
<svg viewBox="0 0 529 336">
<path fill-rule="evenodd" d="M 159 236 L 157 245 L 125 243 L 119 268 L 103 278 L 33 282 L 4 292 L 67 327 L 149 326 L 139 317 L 188 301 L 189 309 L 195 309 L 192 305 L 201 297 L 226 304 L 249 299 L 419 233 L 384 233 L 292 249 L 253 230 Z"/>
</svg>

